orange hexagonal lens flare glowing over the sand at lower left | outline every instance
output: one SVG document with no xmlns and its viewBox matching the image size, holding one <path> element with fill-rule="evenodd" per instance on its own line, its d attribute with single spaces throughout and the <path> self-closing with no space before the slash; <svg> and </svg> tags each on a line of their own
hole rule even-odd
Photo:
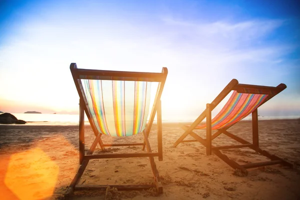
<svg viewBox="0 0 300 200">
<path fill-rule="evenodd" d="M 43 199 L 53 194 L 58 172 L 43 150 L 32 148 L 10 156 L 4 183 L 19 199 Z"/>
</svg>

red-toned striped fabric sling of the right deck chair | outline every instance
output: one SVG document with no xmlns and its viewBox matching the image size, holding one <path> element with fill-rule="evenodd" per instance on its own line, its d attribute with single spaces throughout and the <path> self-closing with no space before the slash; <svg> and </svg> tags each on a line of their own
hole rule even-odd
<svg viewBox="0 0 300 200">
<path fill-rule="evenodd" d="M 238 93 L 233 91 L 232 95 L 211 120 L 211 129 L 219 129 L 233 125 L 253 112 L 267 97 L 267 94 Z M 206 128 L 206 124 L 198 125 L 196 129 Z"/>
</svg>

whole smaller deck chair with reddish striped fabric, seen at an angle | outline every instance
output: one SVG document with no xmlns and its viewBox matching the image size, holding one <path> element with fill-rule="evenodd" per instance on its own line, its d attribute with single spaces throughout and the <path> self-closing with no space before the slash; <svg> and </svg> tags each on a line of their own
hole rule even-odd
<svg viewBox="0 0 300 200">
<path fill-rule="evenodd" d="M 183 125 L 182 128 L 185 132 L 176 140 L 173 144 L 176 147 L 181 142 L 193 142 L 198 141 L 206 147 L 206 154 L 211 155 L 213 152 L 220 159 L 225 161 L 228 165 L 234 169 L 240 169 L 243 173 L 247 174 L 247 168 L 266 166 L 272 164 L 283 164 L 292 166 L 291 163 L 279 158 L 276 155 L 259 148 L 258 142 L 258 115 L 257 108 L 265 103 L 267 100 L 281 92 L 286 88 L 286 85 L 281 83 L 276 87 L 273 86 L 260 86 L 250 84 L 240 84 L 236 79 L 232 79 L 226 87 L 216 96 L 211 102 L 206 104 L 206 109 L 198 116 L 198 118 L 191 125 Z M 229 92 L 232 92 L 228 101 L 219 113 L 211 119 L 211 111 L 225 98 Z M 229 127 L 240 121 L 247 115 L 252 114 L 252 143 L 246 141 L 227 131 Z M 199 124 L 206 117 L 206 123 Z M 194 129 L 206 129 L 206 139 L 203 139 L 198 134 L 193 132 Z M 212 133 L 212 130 L 216 132 Z M 213 146 L 211 141 L 219 136 L 221 133 L 231 137 L 232 139 L 240 142 L 239 145 L 225 145 L 225 146 Z M 183 140 L 187 135 L 192 136 L 194 139 Z M 242 148 L 250 147 L 256 152 L 270 158 L 270 161 L 259 163 L 248 163 L 240 165 L 232 159 L 229 159 L 223 154 L 221 149 L 230 148 Z"/>
</svg>

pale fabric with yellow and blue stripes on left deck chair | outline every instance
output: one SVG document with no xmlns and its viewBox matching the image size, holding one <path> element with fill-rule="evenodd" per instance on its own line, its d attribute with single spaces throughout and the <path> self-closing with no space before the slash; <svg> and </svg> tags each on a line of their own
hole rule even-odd
<svg viewBox="0 0 300 200">
<path fill-rule="evenodd" d="M 130 136 L 145 128 L 151 82 L 81 79 L 91 122 L 110 136 Z"/>
</svg>

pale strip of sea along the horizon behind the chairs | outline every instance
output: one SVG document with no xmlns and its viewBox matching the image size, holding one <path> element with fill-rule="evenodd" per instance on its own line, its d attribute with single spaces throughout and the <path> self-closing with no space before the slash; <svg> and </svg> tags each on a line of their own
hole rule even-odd
<svg viewBox="0 0 300 200">
<path fill-rule="evenodd" d="M 78 114 L 44 114 L 44 113 L 11 113 L 17 119 L 26 121 L 26 125 L 78 125 Z M 182 117 L 182 116 L 181 116 Z M 172 117 L 169 119 L 162 119 L 163 123 L 190 123 L 196 119 L 197 116 L 186 116 L 184 119 Z M 272 120 L 272 119 L 296 119 L 300 116 L 258 116 L 258 119 Z M 155 117 L 156 119 L 156 117 Z M 154 119 L 154 123 L 156 120 Z M 251 115 L 245 117 L 242 120 L 251 120 Z M 205 119 L 203 120 L 205 121 Z M 84 122 L 88 124 L 88 119 L 85 116 Z"/>
</svg>

